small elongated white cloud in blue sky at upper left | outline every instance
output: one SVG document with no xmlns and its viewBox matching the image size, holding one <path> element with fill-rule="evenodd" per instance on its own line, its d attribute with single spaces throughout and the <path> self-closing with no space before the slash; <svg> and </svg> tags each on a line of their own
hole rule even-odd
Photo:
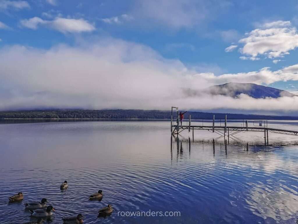
<svg viewBox="0 0 298 224">
<path fill-rule="evenodd" d="M 95 30 L 94 25 L 84 19 L 66 19 L 56 17 L 54 20 L 43 20 L 39 17 L 21 20 L 21 25 L 36 30 L 40 25 L 45 25 L 61 33 L 81 33 Z"/>
</svg>

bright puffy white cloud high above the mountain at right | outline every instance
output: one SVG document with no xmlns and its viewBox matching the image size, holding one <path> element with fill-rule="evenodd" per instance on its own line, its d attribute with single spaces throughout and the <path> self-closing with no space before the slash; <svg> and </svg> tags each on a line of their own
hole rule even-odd
<svg viewBox="0 0 298 224">
<path fill-rule="evenodd" d="M 239 40 L 243 44 L 242 54 L 252 58 L 265 56 L 274 59 L 284 57 L 298 47 L 298 32 L 290 21 L 275 21 L 259 26 Z"/>
</svg>

